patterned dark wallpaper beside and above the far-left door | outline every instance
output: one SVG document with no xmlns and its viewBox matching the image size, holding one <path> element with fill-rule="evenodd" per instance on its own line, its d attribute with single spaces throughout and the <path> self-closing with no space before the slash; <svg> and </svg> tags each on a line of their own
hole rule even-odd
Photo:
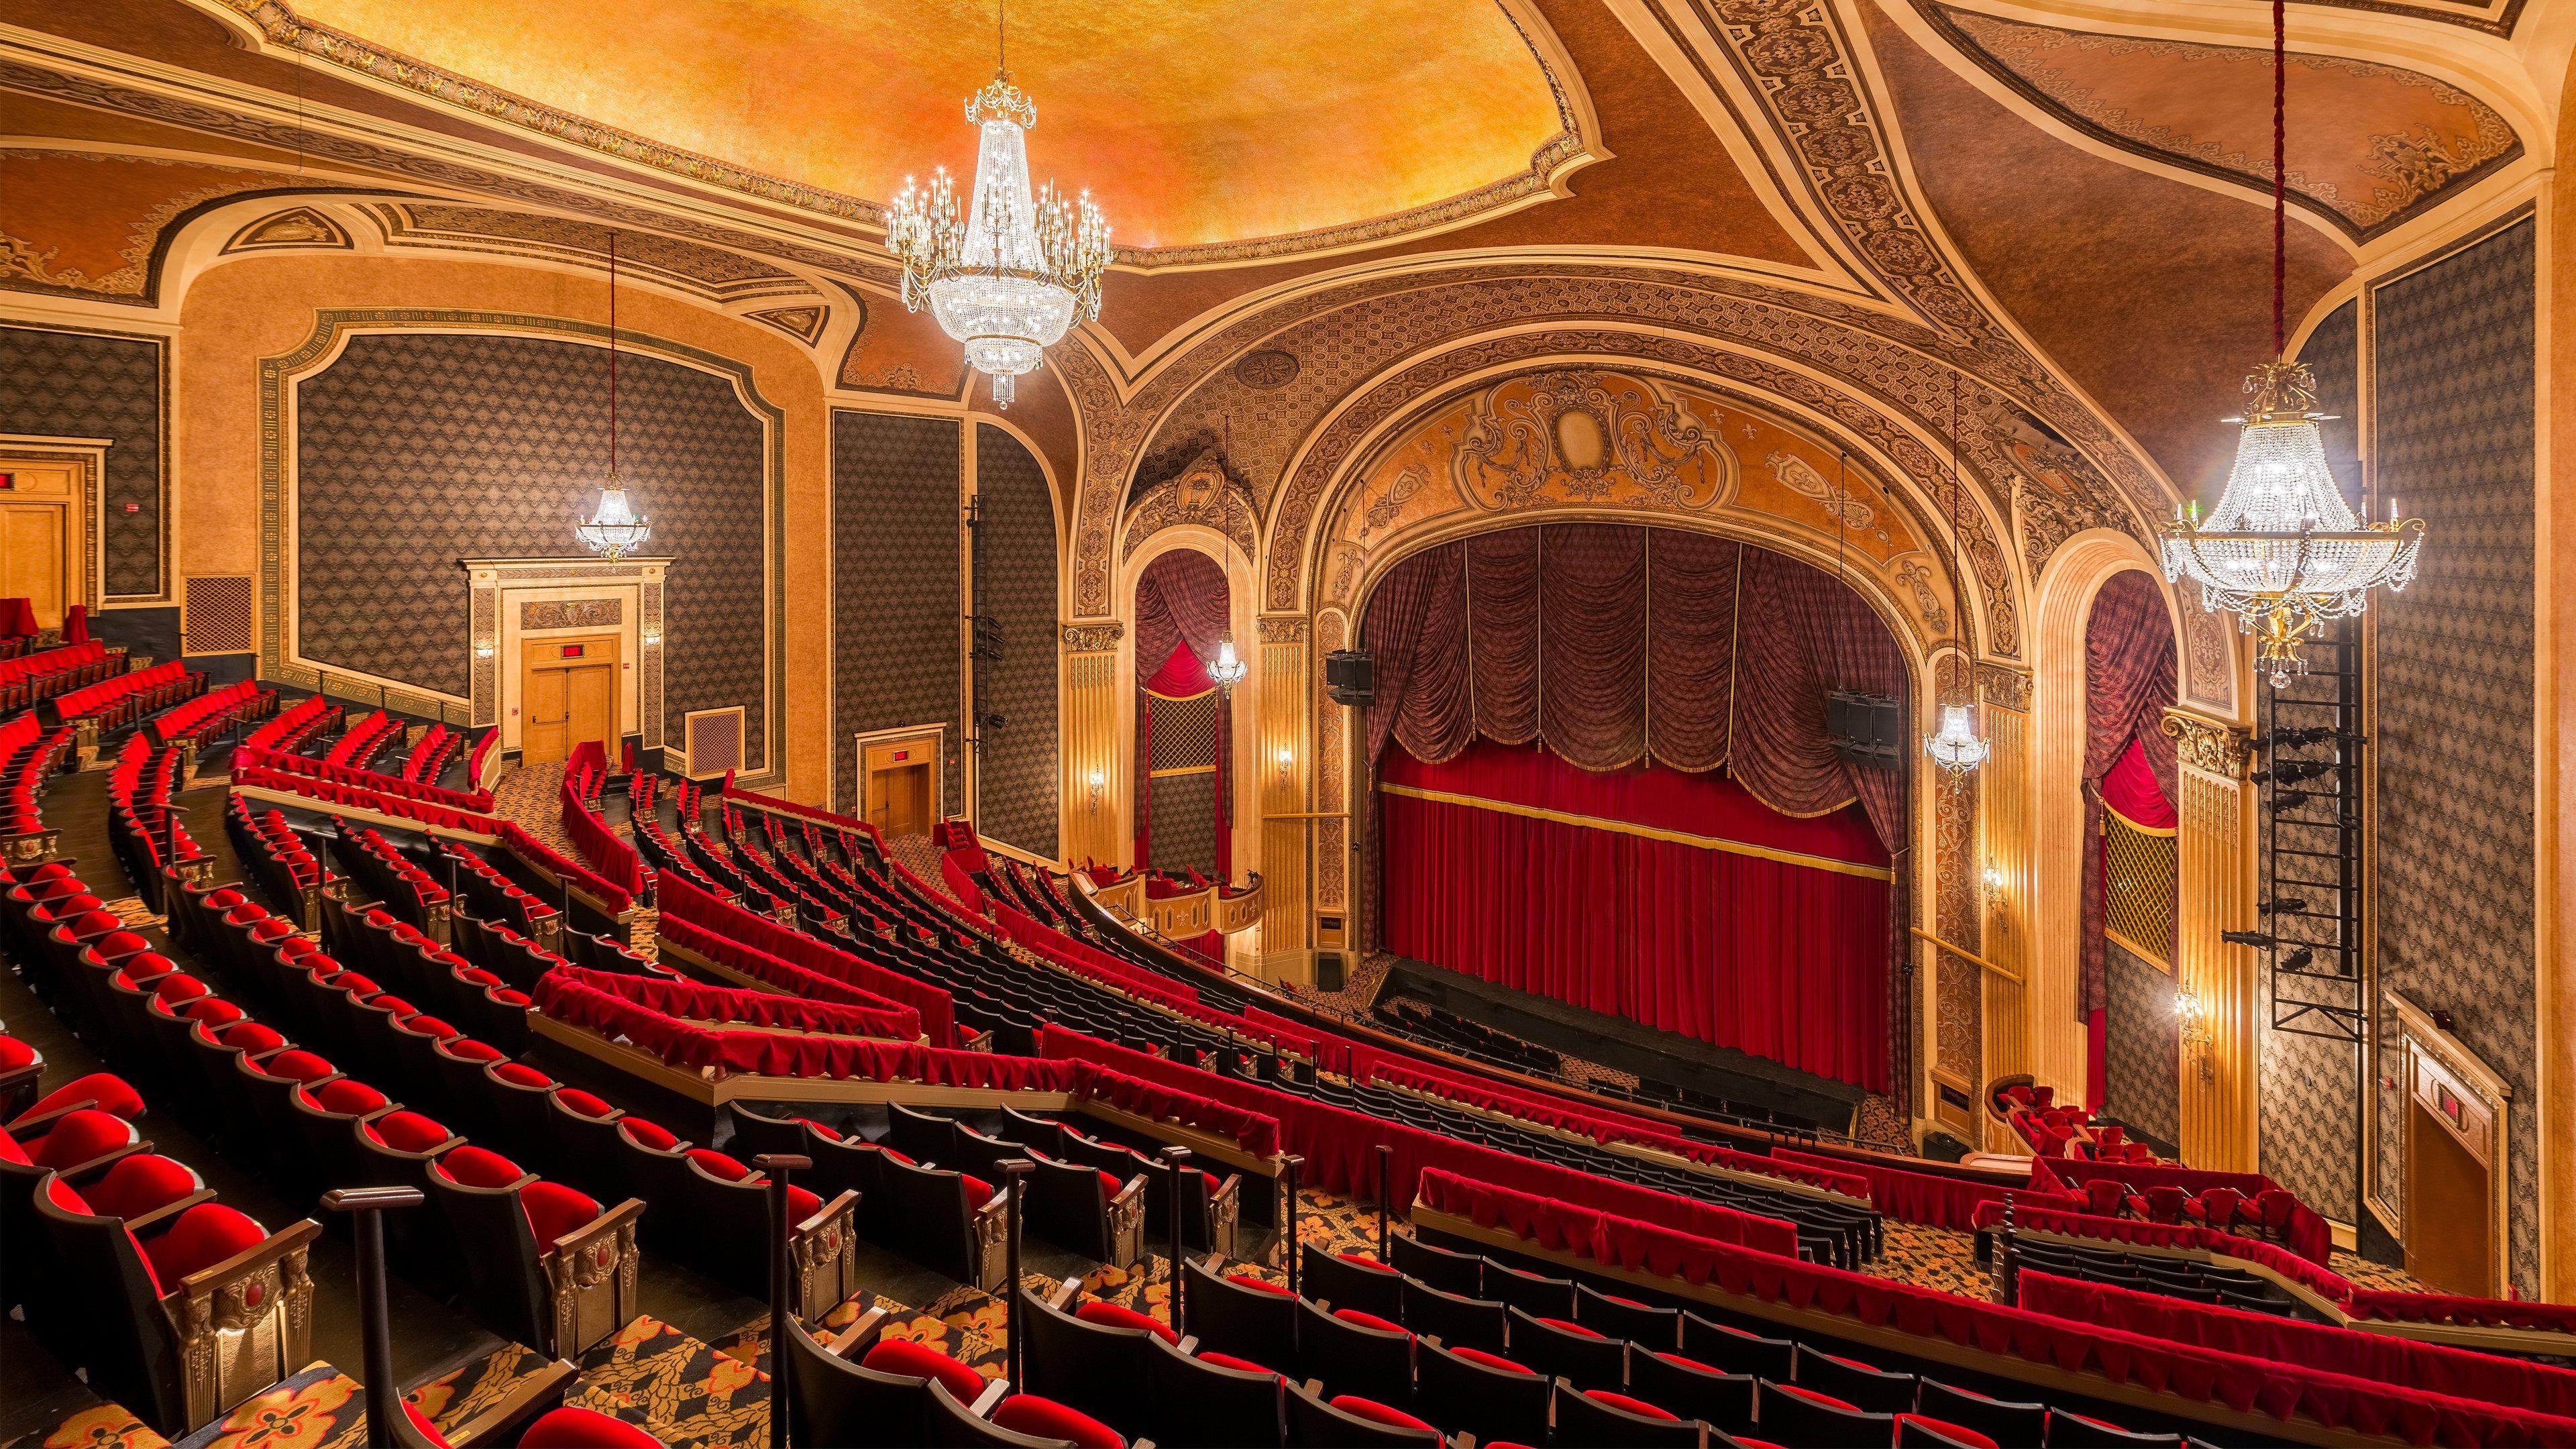
<svg viewBox="0 0 2576 1449">
<path fill-rule="evenodd" d="M 0 433 L 116 438 L 106 477 L 108 596 L 152 596 L 162 529 L 162 345 L 49 327 L 0 327 Z M 126 513 L 134 503 L 134 513 Z"/>
</svg>

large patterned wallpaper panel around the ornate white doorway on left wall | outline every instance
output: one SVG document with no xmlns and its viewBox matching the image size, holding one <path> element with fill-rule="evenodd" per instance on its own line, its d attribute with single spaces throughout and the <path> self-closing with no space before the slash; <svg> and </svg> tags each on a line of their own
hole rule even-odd
<svg viewBox="0 0 2576 1449">
<path fill-rule="evenodd" d="M 466 694 L 464 557 L 559 557 L 598 505 L 608 351 L 500 333 L 361 333 L 296 389 L 296 616 L 309 660 Z M 662 714 L 744 709 L 768 768 L 768 428 L 734 382 L 618 358 L 618 472 L 670 554 Z M 453 642 L 453 647 L 443 647 Z"/>
</svg>

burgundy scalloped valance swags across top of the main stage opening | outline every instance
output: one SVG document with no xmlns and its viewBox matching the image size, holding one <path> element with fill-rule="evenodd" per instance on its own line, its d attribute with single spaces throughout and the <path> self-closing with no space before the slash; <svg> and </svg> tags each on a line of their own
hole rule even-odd
<svg viewBox="0 0 2576 1449">
<path fill-rule="evenodd" d="M 1904 657 L 1850 585 L 1785 554 L 1623 523 L 1479 534 L 1388 572 L 1363 639 L 1370 761 L 1399 740 L 1437 763 L 1481 735 L 1587 771 L 1726 766 L 1783 815 L 1860 799 L 1904 848 L 1904 771 L 1852 766 L 1824 732 L 1826 691 L 1904 699 Z"/>
</svg>

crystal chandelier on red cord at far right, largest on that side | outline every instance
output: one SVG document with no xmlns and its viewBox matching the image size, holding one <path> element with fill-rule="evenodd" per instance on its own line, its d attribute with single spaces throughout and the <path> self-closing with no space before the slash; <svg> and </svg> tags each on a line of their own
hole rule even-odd
<svg viewBox="0 0 2576 1449">
<path fill-rule="evenodd" d="M 2208 521 L 2197 505 L 2187 516 L 2174 505 L 2164 536 L 2164 578 L 2192 575 L 2205 608 L 2228 608 L 2236 627 L 2257 637 L 2254 668 L 2272 676 L 2272 688 L 2306 673 L 2298 652 L 2326 619 L 2347 619 L 2370 603 L 2370 590 L 2406 588 L 2424 549 L 2424 521 L 2398 518 L 2388 500 L 2388 521 L 2357 518 L 2326 467 L 2326 443 L 2316 423 L 2316 376 L 2306 364 L 2277 361 L 2285 351 L 2282 258 L 2287 235 L 2287 170 L 2282 98 L 2287 28 L 2282 5 L 2272 5 L 2272 358 L 2246 379 L 2249 407 L 2236 441 L 2236 467 Z"/>
</svg>

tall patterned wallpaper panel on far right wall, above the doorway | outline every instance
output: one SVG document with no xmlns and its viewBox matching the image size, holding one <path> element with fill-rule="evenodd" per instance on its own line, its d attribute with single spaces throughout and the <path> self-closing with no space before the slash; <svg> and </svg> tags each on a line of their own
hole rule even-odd
<svg viewBox="0 0 2576 1449">
<path fill-rule="evenodd" d="M 2532 1096 L 2535 276 L 2524 219 L 2375 294 L 2378 485 L 2429 523 L 2375 601 L 2378 980 L 2512 1083 L 2512 1276 L 2537 1294 Z M 2378 1003 L 2385 1021 L 2385 1000 Z M 2380 1181 L 2396 1109 L 2380 1091 Z M 2437 1230 L 2411 1222 L 2411 1230 Z"/>
</svg>

